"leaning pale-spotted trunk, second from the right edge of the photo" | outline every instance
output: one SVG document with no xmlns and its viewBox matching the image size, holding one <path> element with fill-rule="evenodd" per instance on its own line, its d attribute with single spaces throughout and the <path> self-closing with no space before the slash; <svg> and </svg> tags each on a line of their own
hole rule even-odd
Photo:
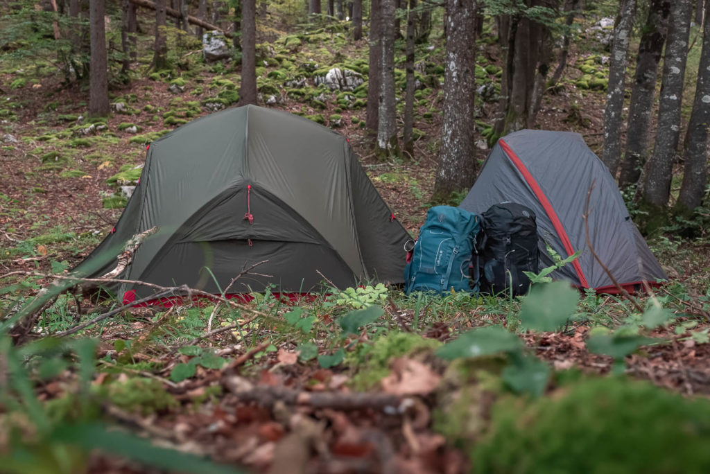
<svg viewBox="0 0 710 474">
<path fill-rule="evenodd" d="M 678 148 L 680 107 L 692 13 L 691 0 L 674 0 L 670 11 L 668 42 L 663 55 L 655 147 L 643 183 L 643 202 L 655 208 L 665 206 L 670 196 L 673 162 Z"/>
</svg>

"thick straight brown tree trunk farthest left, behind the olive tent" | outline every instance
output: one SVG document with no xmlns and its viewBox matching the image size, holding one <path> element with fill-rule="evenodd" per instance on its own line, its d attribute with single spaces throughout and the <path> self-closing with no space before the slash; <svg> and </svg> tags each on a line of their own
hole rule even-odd
<svg viewBox="0 0 710 474">
<path fill-rule="evenodd" d="M 89 69 L 89 116 L 107 116 L 109 108 L 109 75 L 104 26 L 104 0 L 92 0 L 89 6 L 91 66 Z"/>
</svg>

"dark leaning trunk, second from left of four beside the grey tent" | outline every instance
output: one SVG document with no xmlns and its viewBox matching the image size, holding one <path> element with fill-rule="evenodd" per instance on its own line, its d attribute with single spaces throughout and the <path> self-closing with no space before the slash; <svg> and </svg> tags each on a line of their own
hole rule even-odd
<svg viewBox="0 0 710 474">
<path fill-rule="evenodd" d="M 649 130 L 653 97 L 656 91 L 658 64 L 668 33 L 670 0 L 652 0 L 648 18 L 643 26 L 643 35 L 638 45 L 636 72 L 628 111 L 626 126 L 626 150 L 621 162 L 619 186 L 636 184 L 641 175 L 641 167 L 646 162 L 650 147 Z"/>
</svg>

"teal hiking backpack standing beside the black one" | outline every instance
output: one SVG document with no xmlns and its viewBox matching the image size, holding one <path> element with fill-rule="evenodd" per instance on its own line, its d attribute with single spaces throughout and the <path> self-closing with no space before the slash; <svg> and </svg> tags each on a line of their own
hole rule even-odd
<svg viewBox="0 0 710 474">
<path fill-rule="evenodd" d="M 419 237 L 407 255 L 405 293 L 444 294 L 452 289 L 477 292 L 478 279 L 471 281 L 469 271 L 480 230 L 481 218 L 477 214 L 452 206 L 429 209 Z"/>
</svg>

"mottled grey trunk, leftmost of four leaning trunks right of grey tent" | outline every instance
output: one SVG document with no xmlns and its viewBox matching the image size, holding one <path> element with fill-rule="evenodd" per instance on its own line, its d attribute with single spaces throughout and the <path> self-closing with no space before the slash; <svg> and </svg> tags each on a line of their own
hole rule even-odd
<svg viewBox="0 0 710 474">
<path fill-rule="evenodd" d="M 626 91 L 626 55 L 636 11 L 636 0 L 622 0 L 611 43 L 609 77 L 604 109 L 604 148 L 601 160 L 613 177 L 621 161 L 621 124 L 623 96 Z"/>
</svg>

